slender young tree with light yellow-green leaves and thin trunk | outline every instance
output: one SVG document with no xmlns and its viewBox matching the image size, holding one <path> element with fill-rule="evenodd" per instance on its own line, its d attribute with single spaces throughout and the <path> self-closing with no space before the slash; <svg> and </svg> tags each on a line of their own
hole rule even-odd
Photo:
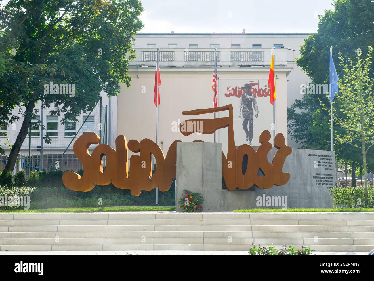
<svg viewBox="0 0 374 281">
<path fill-rule="evenodd" d="M 374 78 L 369 77 L 372 52 L 373 48 L 369 46 L 365 59 L 362 59 L 361 53 L 358 52 L 356 63 L 353 59 L 347 59 L 349 65 L 344 62 L 340 54 L 340 65 L 344 76 L 338 82 L 339 93 L 336 98 L 343 116 L 337 113 L 334 106 L 332 110 L 335 123 L 344 129 L 344 134 L 339 134 L 335 130 L 335 139 L 340 143 L 361 149 L 364 164 L 365 208 L 368 206 L 366 154 L 374 145 Z M 324 109 L 329 111 L 326 107 Z"/>
</svg>

